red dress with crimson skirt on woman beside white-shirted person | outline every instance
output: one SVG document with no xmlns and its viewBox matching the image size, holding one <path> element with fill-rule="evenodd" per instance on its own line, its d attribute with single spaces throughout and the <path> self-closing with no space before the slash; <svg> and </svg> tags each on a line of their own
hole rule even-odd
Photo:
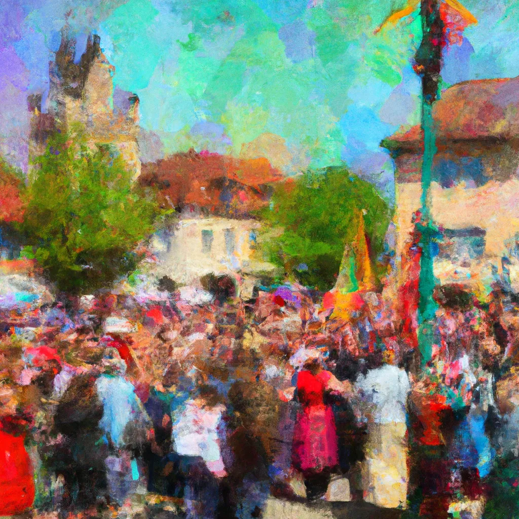
<svg viewBox="0 0 519 519">
<path fill-rule="evenodd" d="M 297 376 L 298 411 L 292 442 L 292 463 L 302 472 L 321 472 L 338 464 L 337 433 L 332 407 L 324 403 L 329 371 Z"/>
</svg>

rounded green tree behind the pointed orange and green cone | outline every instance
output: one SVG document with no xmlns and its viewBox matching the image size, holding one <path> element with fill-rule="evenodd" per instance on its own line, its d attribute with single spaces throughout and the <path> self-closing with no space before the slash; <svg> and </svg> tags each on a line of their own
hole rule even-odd
<svg viewBox="0 0 519 519">
<path fill-rule="evenodd" d="M 360 211 L 375 274 L 391 210 L 372 184 L 344 167 L 309 171 L 280 184 L 262 216 L 269 224 L 263 249 L 269 260 L 303 284 L 329 290 L 345 246 L 357 236 Z M 276 232 L 276 229 L 282 229 Z"/>
</svg>

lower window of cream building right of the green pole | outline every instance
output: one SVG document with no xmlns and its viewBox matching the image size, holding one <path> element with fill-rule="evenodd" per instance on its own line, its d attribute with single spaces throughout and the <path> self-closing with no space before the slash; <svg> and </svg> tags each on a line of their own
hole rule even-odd
<svg viewBox="0 0 519 519">
<path fill-rule="evenodd" d="M 475 260 L 485 253 L 486 231 L 479 227 L 445 229 L 438 257 L 450 261 Z"/>
</svg>

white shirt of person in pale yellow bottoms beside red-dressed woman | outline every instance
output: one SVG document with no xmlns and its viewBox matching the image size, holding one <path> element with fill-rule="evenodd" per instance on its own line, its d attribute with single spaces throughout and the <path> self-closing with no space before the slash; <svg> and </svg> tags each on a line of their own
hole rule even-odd
<svg viewBox="0 0 519 519">
<path fill-rule="evenodd" d="M 378 367 L 360 375 L 356 387 L 371 408 L 376 424 L 405 423 L 405 405 L 411 385 L 404 370 L 391 365 Z"/>
</svg>

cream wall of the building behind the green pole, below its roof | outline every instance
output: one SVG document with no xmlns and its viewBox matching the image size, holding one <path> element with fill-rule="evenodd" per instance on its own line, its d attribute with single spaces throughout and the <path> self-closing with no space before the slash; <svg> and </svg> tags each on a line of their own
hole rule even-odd
<svg viewBox="0 0 519 519">
<path fill-rule="evenodd" d="M 519 143 L 459 141 L 439 142 L 437 147 L 431 185 L 434 222 L 450 229 L 450 234 L 466 233 L 468 229 L 479 233 L 474 229 L 479 228 L 485 235 L 484 247 L 478 246 L 476 254 L 465 251 L 454 257 L 450 252 L 459 248 L 449 248 L 449 239 L 444 239 L 440 245 L 445 247 L 443 254 L 435 258 L 435 275 L 442 282 L 476 282 L 488 289 L 496 268 L 501 272 L 501 257 L 508 254 L 507 240 L 519 232 Z M 421 154 L 402 147 L 393 150 L 392 155 L 396 166 L 395 224 L 400 257 L 413 229 L 412 215 L 420 206 Z M 463 240 L 467 245 L 477 238 L 466 236 Z"/>
</svg>

